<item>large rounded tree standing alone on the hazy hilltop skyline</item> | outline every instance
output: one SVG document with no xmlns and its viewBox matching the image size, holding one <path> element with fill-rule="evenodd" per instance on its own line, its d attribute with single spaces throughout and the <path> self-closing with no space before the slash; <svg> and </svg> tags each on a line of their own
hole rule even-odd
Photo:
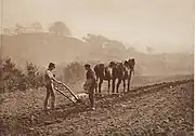
<svg viewBox="0 0 195 136">
<path fill-rule="evenodd" d="M 69 28 L 63 22 L 53 23 L 49 31 L 58 36 L 72 36 Z"/>
</svg>

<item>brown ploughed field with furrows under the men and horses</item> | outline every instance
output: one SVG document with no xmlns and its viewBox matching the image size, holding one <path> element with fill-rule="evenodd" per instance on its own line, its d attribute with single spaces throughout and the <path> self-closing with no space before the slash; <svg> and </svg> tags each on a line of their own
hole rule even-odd
<svg viewBox="0 0 195 136">
<path fill-rule="evenodd" d="M 94 111 L 88 99 L 73 105 L 56 93 L 50 114 L 42 111 L 44 89 L 3 94 L 0 135 L 193 136 L 193 76 L 134 77 L 130 92 L 120 89 L 120 96 L 96 98 Z"/>
</svg>

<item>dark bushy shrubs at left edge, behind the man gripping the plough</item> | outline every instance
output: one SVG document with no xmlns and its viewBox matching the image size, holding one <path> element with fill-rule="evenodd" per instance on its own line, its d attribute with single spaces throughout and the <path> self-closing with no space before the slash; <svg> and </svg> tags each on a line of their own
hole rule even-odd
<svg viewBox="0 0 195 136">
<path fill-rule="evenodd" d="M 0 70 L 2 72 L 0 78 L 3 82 L 1 93 L 38 89 L 43 85 L 43 76 L 32 63 L 27 63 L 26 72 L 24 72 L 16 68 L 12 59 L 8 57 L 1 62 Z"/>
</svg>

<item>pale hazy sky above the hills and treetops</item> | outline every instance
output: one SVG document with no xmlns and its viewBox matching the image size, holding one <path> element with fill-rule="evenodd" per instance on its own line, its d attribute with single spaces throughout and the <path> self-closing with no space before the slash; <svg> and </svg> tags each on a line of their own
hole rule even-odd
<svg viewBox="0 0 195 136">
<path fill-rule="evenodd" d="M 193 0 L 3 0 L 2 19 L 3 27 L 62 21 L 75 37 L 100 33 L 180 51 L 193 49 Z"/>
</svg>

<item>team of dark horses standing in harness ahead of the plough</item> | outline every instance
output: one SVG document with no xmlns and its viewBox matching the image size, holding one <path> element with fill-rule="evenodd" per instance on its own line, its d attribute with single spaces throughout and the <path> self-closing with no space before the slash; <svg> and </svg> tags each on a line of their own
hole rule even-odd
<svg viewBox="0 0 195 136">
<path fill-rule="evenodd" d="M 127 91 L 130 91 L 130 81 L 131 76 L 134 73 L 134 65 L 135 60 L 134 58 L 129 58 L 128 60 L 118 63 L 118 62 L 110 62 L 108 66 L 104 64 L 98 64 L 94 66 L 94 72 L 96 76 L 96 86 L 95 86 L 95 93 L 101 94 L 102 93 L 102 83 L 103 81 L 107 81 L 108 89 L 107 92 L 109 93 L 110 90 L 110 82 L 112 82 L 112 94 L 118 94 L 118 89 L 121 83 L 123 82 L 123 92 L 126 92 L 126 82 Z M 115 84 L 117 82 L 116 89 Z"/>
</svg>

